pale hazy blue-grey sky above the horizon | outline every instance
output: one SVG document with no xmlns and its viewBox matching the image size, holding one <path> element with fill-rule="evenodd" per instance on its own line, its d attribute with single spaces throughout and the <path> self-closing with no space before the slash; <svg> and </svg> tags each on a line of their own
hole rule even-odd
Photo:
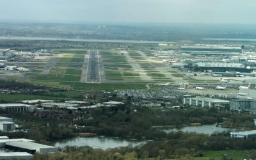
<svg viewBox="0 0 256 160">
<path fill-rule="evenodd" d="M 0 0 L 0 21 L 255 24 L 255 0 Z"/>
</svg>

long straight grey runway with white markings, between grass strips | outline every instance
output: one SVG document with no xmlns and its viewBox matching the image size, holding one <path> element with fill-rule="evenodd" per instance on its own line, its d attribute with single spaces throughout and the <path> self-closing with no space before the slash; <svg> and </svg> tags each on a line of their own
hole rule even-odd
<svg viewBox="0 0 256 160">
<path fill-rule="evenodd" d="M 99 51 L 88 51 L 88 63 L 85 83 L 101 83 L 99 67 Z"/>
</svg>

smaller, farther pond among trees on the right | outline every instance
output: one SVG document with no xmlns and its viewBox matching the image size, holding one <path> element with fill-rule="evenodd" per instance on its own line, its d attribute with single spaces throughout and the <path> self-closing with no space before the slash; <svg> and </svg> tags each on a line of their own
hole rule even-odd
<svg viewBox="0 0 256 160">
<path fill-rule="evenodd" d="M 214 132 L 223 132 L 223 131 L 230 131 L 234 132 L 237 129 L 230 129 L 230 128 L 223 128 L 223 127 L 216 127 L 216 124 L 211 125 L 196 125 L 196 126 L 188 126 L 182 128 L 172 128 L 172 129 L 161 129 L 164 132 L 196 132 L 198 134 L 213 134 Z"/>
</svg>

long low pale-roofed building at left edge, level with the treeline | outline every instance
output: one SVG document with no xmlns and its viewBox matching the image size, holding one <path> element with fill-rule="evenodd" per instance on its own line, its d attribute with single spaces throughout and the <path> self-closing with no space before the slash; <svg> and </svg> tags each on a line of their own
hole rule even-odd
<svg viewBox="0 0 256 160">
<path fill-rule="evenodd" d="M 33 112 L 36 111 L 36 106 L 28 105 L 28 104 L 0 104 L 0 109 L 6 112 L 19 111 L 19 112 Z"/>
</svg>

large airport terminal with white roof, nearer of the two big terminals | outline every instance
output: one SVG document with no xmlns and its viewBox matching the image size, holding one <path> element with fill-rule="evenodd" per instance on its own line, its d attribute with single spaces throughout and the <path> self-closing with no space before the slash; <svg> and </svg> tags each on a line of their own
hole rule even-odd
<svg viewBox="0 0 256 160">
<path fill-rule="evenodd" d="M 241 63 L 198 62 L 193 66 L 196 72 L 211 70 L 212 72 L 252 72 L 252 68 Z"/>
</svg>

